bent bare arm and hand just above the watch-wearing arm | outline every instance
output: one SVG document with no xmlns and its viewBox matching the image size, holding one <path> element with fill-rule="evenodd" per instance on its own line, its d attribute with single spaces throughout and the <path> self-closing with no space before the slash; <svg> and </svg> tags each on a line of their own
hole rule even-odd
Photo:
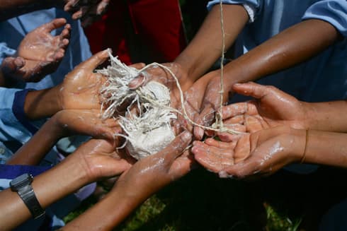
<svg viewBox="0 0 347 231">
<path fill-rule="evenodd" d="M 118 122 L 114 119 L 103 121 L 98 112 L 99 110 L 62 110 L 58 112 L 6 164 L 38 165 L 59 138 L 72 134 L 118 141 L 113 137 L 113 134 L 120 132 Z"/>
</svg>

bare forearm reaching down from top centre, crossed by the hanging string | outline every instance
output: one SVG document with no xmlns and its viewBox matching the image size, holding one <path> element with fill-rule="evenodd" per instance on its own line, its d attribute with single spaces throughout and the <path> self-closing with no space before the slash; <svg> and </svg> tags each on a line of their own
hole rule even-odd
<svg viewBox="0 0 347 231">
<path fill-rule="evenodd" d="M 248 20 L 243 6 L 223 5 L 224 33 L 226 50 L 234 43 Z M 222 29 L 220 6 L 216 5 L 208 14 L 203 25 L 188 47 L 176 58 L 188 73 L 188 78 L 195 81 L 215 63 L 222 52 Z"/>
</svg>

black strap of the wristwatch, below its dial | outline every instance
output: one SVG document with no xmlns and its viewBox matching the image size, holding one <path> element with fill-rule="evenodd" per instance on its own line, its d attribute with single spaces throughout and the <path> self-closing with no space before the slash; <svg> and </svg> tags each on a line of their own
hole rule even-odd
<svg viewBox="0 0 347 231">
<path fill-rule="evenodd" d="M 45 214 L 45 211 L 40 206 L 40 202 L 38 202 L 34 189 L 30 184 L 23 186 L 23 188 L 18 191 L 18 195 L 21 196 L 21 199 L 25 203 L 25 206 L 28 207 L 34 219 L 40 218 Z"/>
</svg>

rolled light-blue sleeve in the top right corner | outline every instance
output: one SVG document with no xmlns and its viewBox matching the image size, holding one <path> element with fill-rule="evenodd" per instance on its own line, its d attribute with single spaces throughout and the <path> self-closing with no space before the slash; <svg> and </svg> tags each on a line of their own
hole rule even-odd
<svg viewBox="0 0 347 231">
<path fill-rule="evenodd" d="M 324 20 L 334 25 L 336 30 L 347 37 L 347 1 L 345 0 L 317 1 L 307 9 L 302 19 Z"/>
</svg>

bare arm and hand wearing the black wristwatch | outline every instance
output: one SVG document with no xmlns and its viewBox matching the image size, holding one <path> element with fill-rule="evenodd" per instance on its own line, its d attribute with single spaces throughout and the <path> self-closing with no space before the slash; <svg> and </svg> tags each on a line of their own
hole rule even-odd
<svg viewBox="0 0 347 231">
<path fill-rule="evenodd" d="M 33 189 L 42 208 L 101 177 L 119 175 L 130 164 L 119 158 L 107 141 L 91 140 L 80 146 L 56 167 L 35 177 Z M 0 192 L 0 230 L 12 230 L 31 214 L 16 192 Z"/>
</svg>

